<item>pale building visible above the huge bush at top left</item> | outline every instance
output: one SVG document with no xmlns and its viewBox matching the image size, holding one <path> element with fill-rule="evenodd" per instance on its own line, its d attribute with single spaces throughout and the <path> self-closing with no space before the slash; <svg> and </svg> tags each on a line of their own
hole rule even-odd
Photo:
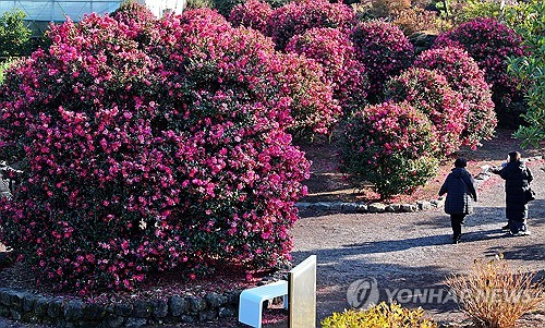
<svg viewBox="0 0 545 328">
<path fill-rule="evenodd" d="M 49 22 L 64 22 L 66 16 L 72 21 L 82 20 L 85 14 L 105 14 L 113 12 L 122 0 L 0 0 L 0 14 L 15 9 L 22 10 L 25 21 L 33 31 L 39 33 L 47 28 Z M 167 12 L 181 13 L 186 0 L 138 0 L 157 16 Z"/>
</svg>

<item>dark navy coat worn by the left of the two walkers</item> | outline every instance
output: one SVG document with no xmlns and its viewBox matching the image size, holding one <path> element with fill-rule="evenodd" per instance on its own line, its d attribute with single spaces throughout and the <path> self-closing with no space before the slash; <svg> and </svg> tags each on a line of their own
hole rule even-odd
<svg viewBox="0 0 545 328">
<path fill-rule="evenodd" d="M 475 181 L 464 168 L 455 168 L 443 183 L 439 196 L 447 194 L 446 214 L 472 214 L 476 202 Z"/>
</svg>

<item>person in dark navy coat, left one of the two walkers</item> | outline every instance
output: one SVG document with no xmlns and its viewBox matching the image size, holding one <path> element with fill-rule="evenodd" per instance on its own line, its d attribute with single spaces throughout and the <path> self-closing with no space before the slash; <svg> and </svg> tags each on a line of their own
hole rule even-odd
<svg viewBox="0 0 545 328">
<path fill-rule="evenodd" d="M 447 194 L 445 212 L 450 215 L 455 244 L 460 242 L 463 219 L 473 212 L 473 202 L 477 199 L 475 181 L 465 170 L 467 165 L 468 161 L 464 158 L 457 158 L 455 168 L 439 190 L 439 196 Z"/>
</svg>

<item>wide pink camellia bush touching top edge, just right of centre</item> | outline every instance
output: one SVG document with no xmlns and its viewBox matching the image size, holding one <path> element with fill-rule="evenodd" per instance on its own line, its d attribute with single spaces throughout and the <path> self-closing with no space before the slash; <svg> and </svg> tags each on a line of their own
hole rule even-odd
<svg viewBox="0 0 545 328">
<path fill-rule="evenodd" d="M 289 40 L 313 27 L 349 29 L 355 22 L 352 9 L 327 0 L 293 1 L 270 14 L 266 35 L 272 37 L 277 49 L 283 50 Z"/>
</svg>

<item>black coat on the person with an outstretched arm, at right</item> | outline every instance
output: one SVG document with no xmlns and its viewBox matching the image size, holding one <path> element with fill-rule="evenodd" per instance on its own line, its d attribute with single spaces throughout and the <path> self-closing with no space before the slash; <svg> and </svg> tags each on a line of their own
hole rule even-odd
<svg viewBox="0 0 545 328">
<path fill-rule="evenodd" d="M 526 198 L 524 193 L 534 179 L 523 161 L 508 162 L 501 170 L 493 171 L 506 181 L 507 219 L 520 220 L 525 216 Z"/>
</svg>

